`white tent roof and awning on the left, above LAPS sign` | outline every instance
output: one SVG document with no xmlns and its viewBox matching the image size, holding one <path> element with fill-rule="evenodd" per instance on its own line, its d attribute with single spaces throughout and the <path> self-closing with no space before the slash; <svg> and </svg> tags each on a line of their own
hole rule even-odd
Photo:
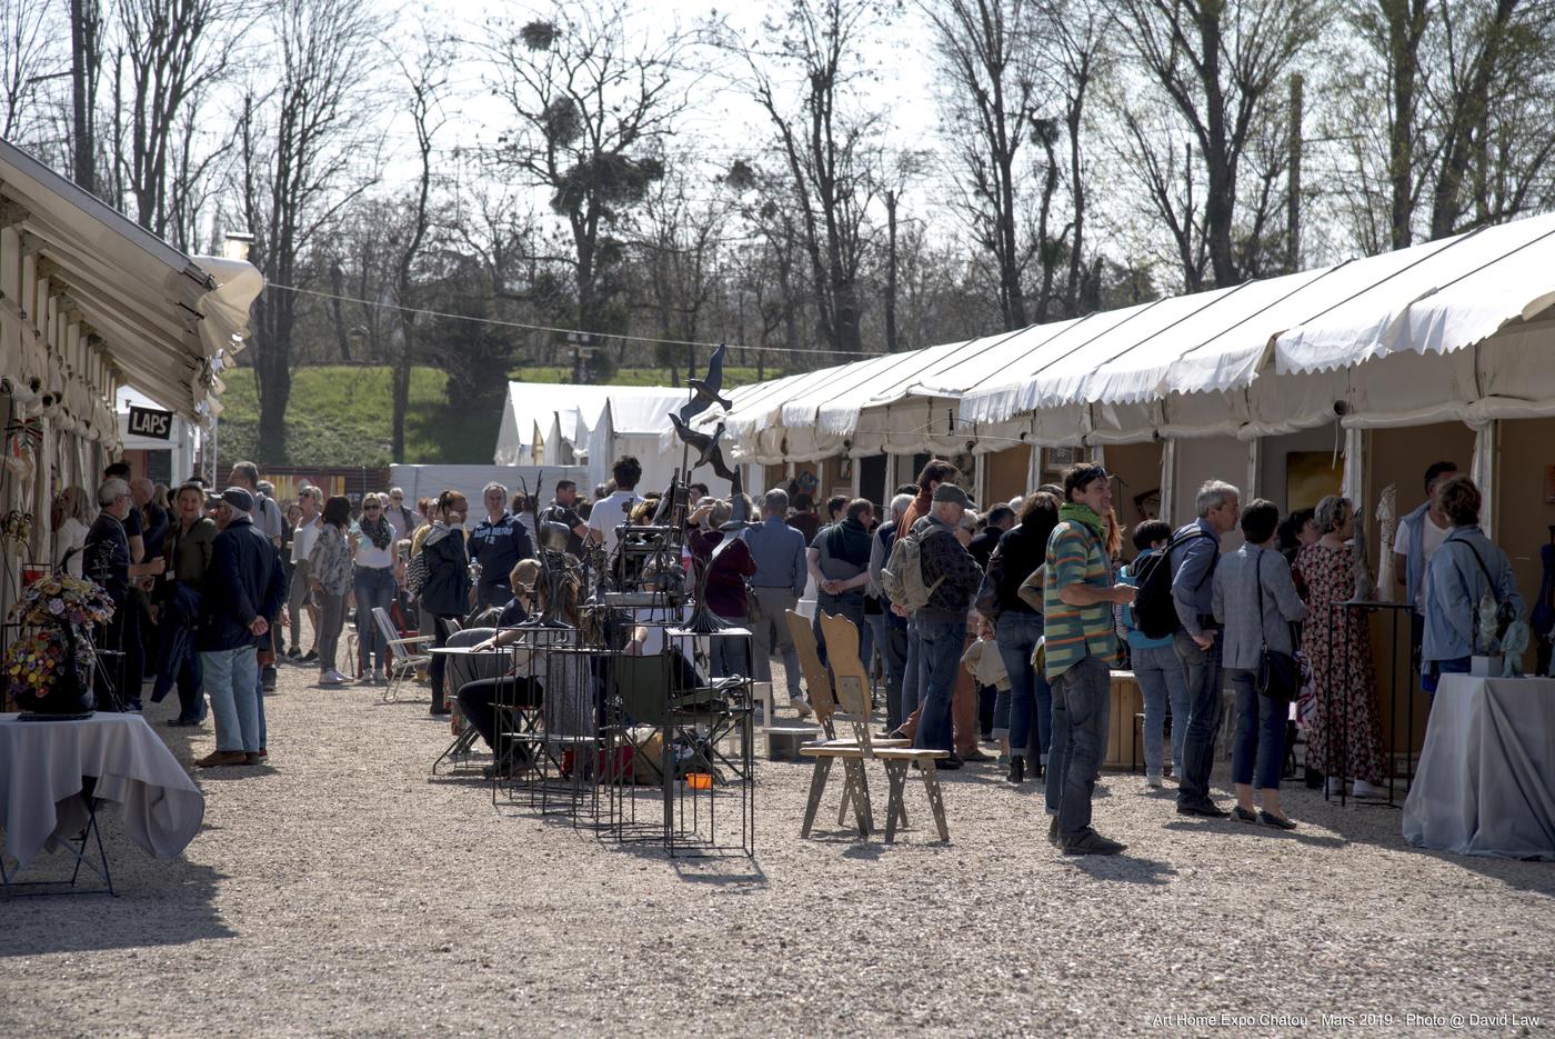
<svg viewBox="0 0 1555 1039">
<path fill-rule="evenodd" d="M 6 230 L 39 257 L 34 277 L 58 300 L 61 325 L 79 328 L 118 380 L 173 411 L 188 418 L 211 411 L 218 358 L 247 336 L 249 306 L 264 286 L 260 272 L 183 255 L 5 140 L 0 194 L 11 204 Z M 22 285 L 20 266 L 6 257 L 3 292 L 25 311 L 31 286 Z M 65 341 L 45 345 L 61 350 Z"/>
</svg>

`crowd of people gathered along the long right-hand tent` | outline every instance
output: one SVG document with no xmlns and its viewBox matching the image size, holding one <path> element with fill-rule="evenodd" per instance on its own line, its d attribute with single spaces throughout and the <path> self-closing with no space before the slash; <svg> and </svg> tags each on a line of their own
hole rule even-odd
<svg viewBox="0 0 1555 1039">
<path fill-rule="evenodd" d="M 939 767 L 952 770 L 987 759 L 980 743 L 997 740 L 1009 782 L 1045 782 L 1054 845 L 1115 854 L 1123 845 L 1099 835 L 1090 812 L 1113 672 L 1130 669 L 1138 683 L 1146 782 L 1174 779 L 1177 813 L 1292 829 L 1280 782 L 1294 762 L 1291 701 L 1300 689 L 1270 683 L 1266 659 L 1302 658 L 1311 675 L 1308 775 L 1331 792 L 1348 779 L 1354 796 L 1386 795 L 1365 613 L 1344 605 L 1365 566 L 1348 499 L 1328 496 L 1281 518 L 1274 502 L 1244 507 L 1236 487 L 1210 481 L 1193 523 L 1174 530 L 1144 520 L 1124 532 L 1099 465 L 1075 467 L 1062 485 L 981 516 L 961 482 L 950 462 L 935 460 L 883 510 L 837 496 L 824 518 L 795 487 L 768 492 L 760 524 L 743 533 L 756 678 L 770 681 L 779 656 L 790 700 L 810 712 L 784 624 L 810 586 L 816 613 L 858 625 L 861 653 L 885 686 L 885 736 L 947 751 Z M 1504 617 L 1519 614 L 1522 600 L 1507 555 L 1479 527 L 1473 481 L 1438 462 L 1424 492 L 1387 551 L 1400 557 L 1415 607 L 1415 661 L 1432 691 L 1441 673 L 1469 669 L 1485 600 Z M 1238 529 L 1241 547 L 1225 552 Z M 916 543 L 908 558 L 928 588 L 911 608 L 883 580 L 899 538 Z M 1152 569 L 1160 572 L 1149 579 Z M 1165 622 L 1140 622 L 1141 577 L 1169 596 Z M 824 661 L 818 624 L 815 635 Z M 972 683 L 958 681 L 958 664 Z M 1230 810 L 1210 784 L 1227 684 L 1236 719 Z"/>
</svg>

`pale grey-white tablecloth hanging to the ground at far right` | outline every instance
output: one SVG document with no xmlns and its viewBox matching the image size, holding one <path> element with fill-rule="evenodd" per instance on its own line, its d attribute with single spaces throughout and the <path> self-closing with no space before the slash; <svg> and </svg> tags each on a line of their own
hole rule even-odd
<svg viewBox="0 0 1555 1039">
<path fill-rule="evenodd" d="M 1404 801 L 1404 840 L 1555 859 L 1555 680 L 1441 678 Z"/>
</svg>

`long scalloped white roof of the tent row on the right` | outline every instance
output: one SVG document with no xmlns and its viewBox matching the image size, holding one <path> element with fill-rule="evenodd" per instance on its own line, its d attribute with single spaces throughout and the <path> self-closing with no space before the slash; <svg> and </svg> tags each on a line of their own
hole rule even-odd
<svg viewBox="0 0 1555 1039">
<path fill-rule="evenodd" d="M 778 462 L 961 450 L 969 437 L 987 437 L 978 450 L 1250 437 L 1330 422 L 1340 400 L 1347 425 L 1555 414 L 1555 370 L 1543 373 L 1555 322 L 1541 320 L 1552 303 L 1555 215 L 1544 215 L 773 380 L 745 387 L 723 418 L 736 457 Z M 1543 355 L 1529 361 L 1530 350 Z"/>
</svg>

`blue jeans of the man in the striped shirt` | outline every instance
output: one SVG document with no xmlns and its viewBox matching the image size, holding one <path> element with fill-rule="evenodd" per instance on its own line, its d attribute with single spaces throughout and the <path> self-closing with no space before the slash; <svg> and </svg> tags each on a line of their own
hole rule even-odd
<svg viewBox="0 0 1555 1039">
<path fill-rule="evenodd" d="M 1112 669 L 1099 656 L 1081 658 L 1053 683 L 1047 801 L 1057 812 L 1061 841 L 1090 829 L 1090 796 L 1107 753 L 1110 715 Z"/>
</svg>

